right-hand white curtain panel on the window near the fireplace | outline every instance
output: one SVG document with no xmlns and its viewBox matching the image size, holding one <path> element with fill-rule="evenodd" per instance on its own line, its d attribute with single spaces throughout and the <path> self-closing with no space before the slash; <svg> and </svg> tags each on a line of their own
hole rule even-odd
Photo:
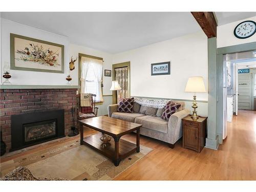
<svg viewBox="0 0 256 192">
<path fill-rule="evenodd" d="M 102 69 L 103 69 L 103 63 L 102 60 L 99 59 L 93 59 L 94 62 L 94 73 L 96 77 L 96 102 L 97 101 L 103 101 L 102 97 L 102 89 L 101 89 L 101 82 L 102 82 Z"/>
</svg>

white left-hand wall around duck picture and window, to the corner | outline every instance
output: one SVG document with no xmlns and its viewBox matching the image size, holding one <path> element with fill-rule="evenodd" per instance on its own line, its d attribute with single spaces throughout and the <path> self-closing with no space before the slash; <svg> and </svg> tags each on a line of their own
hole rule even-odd
<svg viewBox="0 0 256 192">
<path fill-rule="evenodd" d="M 78 57 L 78 53 L 93 55 L 97 57 L 102 57 L 103 62 L 103 73 L 104 69 L 112 70 L 112 54 L 104 53 L 98 50 L 90 49 L 87 47 L 73 45 L 69 43 L 69 38 L 63 35 L 50 33 L 44 30 L 40 30 L 37 28 L 33 28 L 30 26 L 18 24 L 12 22 L 11 20 L 1 18 L 0 19 L 0 37 L 1 42 L 0 49 L 1 57 L 1 70 L 4 68 L 5 61 L 9 62 L 10 65 L 10 33 L 24 35 L 32 38 L 37 38 L 41 40 L 46 40 L 50 42 L 55 42 L 57 44 L 61 44 L 65 46 L 65 57 L 64 57 L 64 65 L 65 72 L 64 73 L 45 73 L 45 72 L 32 72 L 32 71 L 20 71 L 20 70 L 11 70 L 12 78 L 10 81 L 12 84 L 36 84 L 36 85 L 65 85 L 67 83 L 66 77 L 70 73 L 73 85 L 78 85 L 78 59 L 75 62 L 75 70 L 69 70 L 69 62 L 71 56 L 73 58 Z M 1 73 L 2 74 L 2 73 Z M 2 75 L 1 75 L 2 76 Z M 5 80 L 3 77 L 0 78 L 1 83 Z M 103 75 L 103 95 L 112 95 L 112 91 L 110 91 L 112 77 L 105 77 Z M 104 103 L 102 105 L 98 105 L 99 107 L 99 115 L 108 114 L 107 106 L 112 104 L 112 96 L 103 96 Z"/>
</svg>

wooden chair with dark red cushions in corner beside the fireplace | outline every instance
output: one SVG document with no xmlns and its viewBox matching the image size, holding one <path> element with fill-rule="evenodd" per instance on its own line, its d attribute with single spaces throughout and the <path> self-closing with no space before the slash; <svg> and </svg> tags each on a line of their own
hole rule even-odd
<svg viewBox="0 0 256 192">
<path fill-rule="evenodd" d="M 80 105 L 80 94 L 77 96 L 77 120 L 88 119 L 97 117 L 98 108 L 95 106 L 95 94 L 92 94 L 91 101 L 92 106 Z"/>
</svg>

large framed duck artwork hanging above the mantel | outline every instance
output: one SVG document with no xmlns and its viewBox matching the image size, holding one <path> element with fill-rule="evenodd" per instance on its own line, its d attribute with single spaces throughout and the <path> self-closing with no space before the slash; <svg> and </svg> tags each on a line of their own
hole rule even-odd
<svg viewBox="0 0 256 192">
<path fill-rule="evenodd" d="M 10 34 L 12 70 L 64 73 L 64 46 Z"/>
</svg>

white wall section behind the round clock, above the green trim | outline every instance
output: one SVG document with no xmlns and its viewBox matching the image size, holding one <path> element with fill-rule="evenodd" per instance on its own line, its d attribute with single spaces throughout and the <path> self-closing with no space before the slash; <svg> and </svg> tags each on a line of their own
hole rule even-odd
<svg viewBox="0 0 256 192">
<path fill-rule="evenodd" d="M 233 22 L 233 23 L 229 23 L 229 24 L 217 27 L 217 48 L 239 45 L 239 44 L 246 44 L 247 42 L 256 41 L 256 34 L 246 39 L 239 39 L 236 36 L 234 36 L 234 33 L 233 33 L 234 28 L 244 20 L 253 20 L 254 22 L 256 22 L 256 16 L 246 18 L 243 20 L 238 20 L 237 22 Z"/>
</svg>

